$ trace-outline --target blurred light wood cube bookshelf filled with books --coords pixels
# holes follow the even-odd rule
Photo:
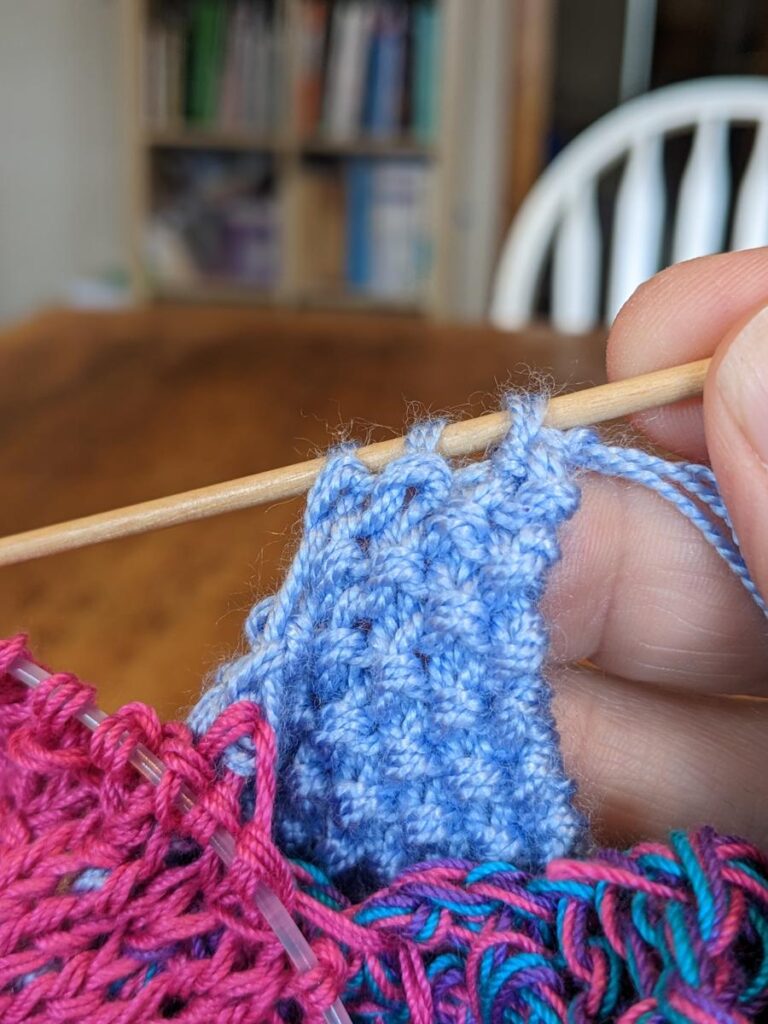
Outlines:
[[[137,297],[456,313],[473,5],[122,2]]]

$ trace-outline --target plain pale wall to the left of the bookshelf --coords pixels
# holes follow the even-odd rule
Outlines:
[[[0,321],[125,265],[118,0],[0,0]]]

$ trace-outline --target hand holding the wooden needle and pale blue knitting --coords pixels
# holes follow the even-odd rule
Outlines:
[[[768,249],[665,270],[616,317],[608,375],[715,356],[703,401],[644,414],[664,449],[709,461],[768,596]],[[761,311],[762,310],[762,311]],[[674,508],[585,482],[550,581],[550,673],[565,767],[598,841],[715,825],[768,846],[768,625]],[[598,671],[573,667],[589,659]]]

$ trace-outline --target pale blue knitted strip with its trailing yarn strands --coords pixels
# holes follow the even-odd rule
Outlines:
[[[248,653],[191,714],[203,732],[234,700],[265,709],[278,839],[337,878],[380,884],[431,856],[536,867],[579,845],[539,612],[579,471],[672,502],[760,602],[709,469],[543,428],[543,397],[507,403],[512,427],[482,461],[436,454],[441,422],[380,473],[332,454],[283,587],[249,615]],[[252,770],[242,746],[229,763]]]

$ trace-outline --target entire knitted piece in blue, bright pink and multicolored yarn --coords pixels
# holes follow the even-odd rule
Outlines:
[[[481,461],[436,454],[440,424],[380,474],[333,453],[188,726],[135,703],[90,733],[92,689],[28,691],[25,639],[0,644],[0,1020],[293,1024],[338,998],[385,1024],[761,1019],[768,862],[709,828],[585,859],[543,674],[539,601],[585,471],[674,503],[765,610],[712,473],[545,429],[543,398],[509,408]]]

